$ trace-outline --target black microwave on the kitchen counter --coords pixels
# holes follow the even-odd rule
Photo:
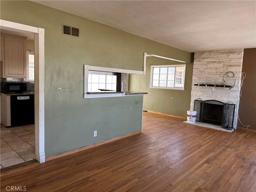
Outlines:
[[[22,93],[27,91],[27,84],[21,82],[1,82],[1,92]]]

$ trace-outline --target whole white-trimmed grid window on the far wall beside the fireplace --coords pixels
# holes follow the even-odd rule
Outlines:
[[[150,88],[184,90],[186,64],[151,66]]]

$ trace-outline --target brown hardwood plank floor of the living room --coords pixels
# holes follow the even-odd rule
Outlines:
[[[256,191],[256,132],[228,133],[183,121],[144,112],[141,134],[4,173],[1,191]]]

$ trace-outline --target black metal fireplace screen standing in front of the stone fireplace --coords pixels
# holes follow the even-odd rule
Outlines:
[[[216,100],[195,100],[194,111],[198,122],[220,125],[225,129],[233,128],[235,104]]]

